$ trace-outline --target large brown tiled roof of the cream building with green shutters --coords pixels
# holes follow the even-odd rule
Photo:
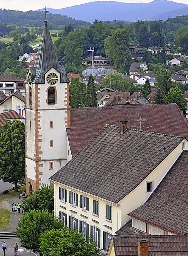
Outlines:
[[[119,202],[144,180],[183,137],[106,125],[50,179]]]

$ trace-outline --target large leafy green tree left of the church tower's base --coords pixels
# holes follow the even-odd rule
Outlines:
[[[13,183],[25,179],[25,124],[19,120],[6,120],[0,126],[0,179]]]

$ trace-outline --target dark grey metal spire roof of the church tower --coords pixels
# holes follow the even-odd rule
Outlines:
[[[45,26],[34,66],[36,76],[33,81],[33,84],[44,84],[44,74],[52,67],[61,74],[61,83],[69,82],[68,78],[63,72],[61,65],[59,64],[56,51],[54,49],[53,42],[48,29],[47,21],[45,20]]]

